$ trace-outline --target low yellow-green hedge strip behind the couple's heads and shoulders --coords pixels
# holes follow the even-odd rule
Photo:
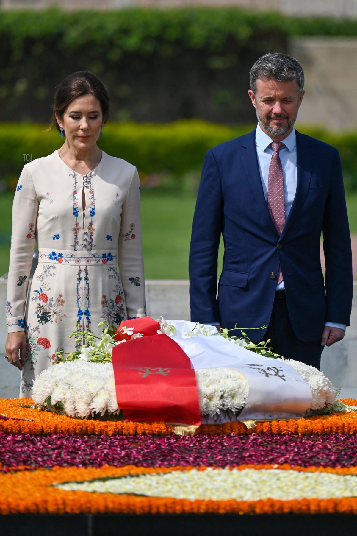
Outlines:
[[[133,163],[141,177],[162,172],[183,176],[201,169],[204,154],[209,148],[253,128],[254,125],[230,128],[200,120],[181,120],[170,124],[109,123],[98,145],[103,151]],[[27,158],[40,158],[62,145],[56,130],[44,130],[45,125],[0,124],[0,177],[10,189],[15,187]],[[337,147],[346,187],[357,189],[357,133],[339,134],[303,127],[298,130]]]

